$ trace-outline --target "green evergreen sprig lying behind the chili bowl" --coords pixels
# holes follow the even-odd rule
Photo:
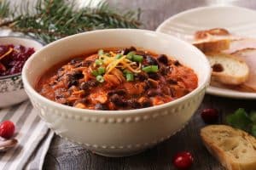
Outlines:
[[[0,27],[20,31],[44,42],[52,42],[79,32],[106,28],[138,28],[139,10],[120,13],[99,3],[96,8],[76,8],[65,0],[38,0],[35,10],[26,7],[17,10],[9,8],[8,1],[0,1]]]

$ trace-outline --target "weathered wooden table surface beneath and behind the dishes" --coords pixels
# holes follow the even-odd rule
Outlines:
[[[143,28],[155,30],[163,20],[188,8],[228,3],[247,8],[256,8],[254,0],[108,0],[113,6],[119,8],[141,8]],[[255,109],[255,100],[224,99],[206,95],[200,108],[196,111],[189,124],[172,138],[158,144],[152,149],[136,156],[122,158],[108,158],[97,156],[83,147],[72,144],[55,135],[44,161],[45,169],[175,169],[172,166],[172,156],[181,150],[189,150],[195,156],[191,169],[195,170],[221,170],[218,161],[207,152],[201,143],[199,131],[205,124],[201,120],[200,112],[203,108],[217,108],[221,116],[219,122],[224,122],[227,114],[239,107],[248,111]]]

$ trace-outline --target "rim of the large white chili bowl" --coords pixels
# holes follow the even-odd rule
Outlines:
[[[27,81],[26,67],[30,64],[32,59],[34,57],[36,57],[38,54],[40,54],[41,51],[44,51],[45,48],[47,49],[49,47],[55,46],[56,43],[66,41],[68,39],[72,39],[73,37],[86,36],[87,34],[95,34],[97,32],[108,33],[109,31],[127,31],[127,32],[137,31],[138,33],[140,33],[140,32],[141,33],[151,33],[151,34],[158,35],[158,36],[161,36],[161,37],[167,37],[167,38],[169,37],[171,39],[174,39],[177,42],[182,42],[184,45],[190,46],[190,48],[195,50],[197,54],[201,55],[201,57],[203,59],[205,59],[205,62],[207,64],[207,71],[208,71],[207,77],[204,77],[203,82],[197,88],[195,88],[192,92],[190,92],[189,94],[184,95],[181,98],[175,99],[171,102],[168,102],[168,103],[165,103],[165,104],[162,104],[162,105],[155,105],[155,106],[150,106],[150,107],[147,107],[147,108],[134,109],[134,110],[123,110],[123,111],[98,111],[98,110],[89,110],[89,109],[79,109],[79,108],[75,108],[75,107],[72,107],[72,106],[61,105],[61,104],[59,104],[55,101],[52,101],[50,99],[47,99],[44,96],[42,96],[41,94],[39,94],[34,88],[32,88],[32,85]],[[160,38],[160,37],[158,37],[158,38]],[[154,112],[154,111],[157,111],[157,110],[166,109],[166,108],[168,108],[172,105],[177,105],[179,103],[182,103],[185,100],[188,100],[190,97],[194,96],[195,94],[201,93],[201,91],[206,89],[207,86],[209,85],[209,81],[210,81],[210,77],[211,77],[211,66],[210,66],[206,56],[204,54],[202,54],[201,51],[198,48],[195,48],[194,46],[189,44],[189,42],[184,42],[183,40],[178,39],[177,37],[173,37],[173,36],[167,35],[165,33],[161,33],[161,32],[142,30],[142,29],[122,29],[122,28],[121,29],[105,29],[105,30],[87,31],[87,32],[74,34],[72,36],[61,38],[59,40],[56,40],[55,42],[51,42],[48,45],[44,46],[44,48],[41,48],[37,52],[32,54],[32,57],[27,59],[23,68],[25,68],[25,69],[22,70],[21,76],[22,76],[22,81],[23,81],[24,87],[36,99],[38,99],[39,101],[40,100],[43,101],[47,105],[54,106],[56,109],[61,109],[61,110],[65,110],[67,112],[72,112],[73,114],[74,113],[84,114],[84,116],[85,115],[87,115],[87,116],[127,116],[127,115],[137,115],[139,113],[143,114],[145,112]]]

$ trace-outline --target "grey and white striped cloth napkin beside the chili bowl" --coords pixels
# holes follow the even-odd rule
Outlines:
[[[0,109],[0,122],[15,123],[15,139],[19,144],[0,152],[0,169],[42,169],[53,132],[41,121],[30,101]]]

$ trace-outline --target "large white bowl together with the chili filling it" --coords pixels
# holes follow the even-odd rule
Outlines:
[[[27,60],[22,80],[62,138],[102,156],[129,156],[183,128],[210,74],[205,55],[187,42],[114,29],[49,43]]]

